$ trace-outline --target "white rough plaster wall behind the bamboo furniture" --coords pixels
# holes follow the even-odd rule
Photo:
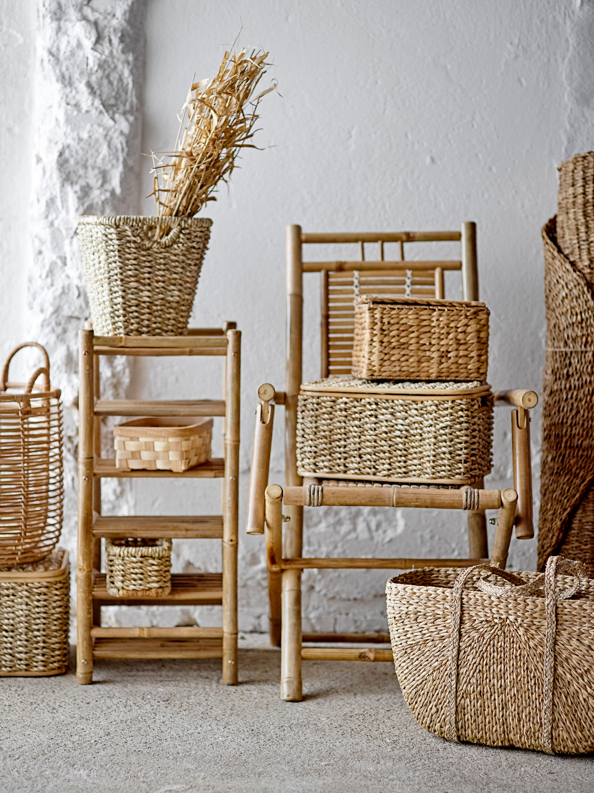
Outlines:
[[[263,151],[246,152],[229,190],[223,188],[219,201],[204,212],[214,225],[192,317],[192,324],[200,325],[237,320],[243,331],[240,627],[265,630],[263,540],[246,537],[243,524],[255,390],[262,381],[280,389],[284,384],[284,226],[458,228],[461,220],[476,220],[481,296],[491,309],[489,381],[497,388],[539,390],[544,343],[539,229],[555,211],[556,167],[592,148],[594,6],[573,0],[149,0],[145,8],[140,0],[40,0],[33,60],[33,4],[12,5],[15,13],[10,24],[6,14],[0,33],[0,63],[10,76],[10,90],[0,100],[3,110],[6,105],[2,163],[12,180],[11,189],[0,195],[0,244],[8,246],[0,260],[0,310],[13,322],[0,343],[3,351],[11,332],[47,342],[66,404],[76,391],[76,331],[88,314],[74,217],[153,213],[152,201],[143,199],[151,190],[148,161],[139,155],[171,147],[176,114],[194,73],[196,79],[213,74],[240,18],[242,43],[271,51],[271,76],[279,80],[282,98],[270,94],[262,102],[257,143]],[[15,152],[21,168],[13,163]],[[16,216],[22,224],[14,223]],[[312,258],[322,253],[308,252]],[[409,248],[408,254],[423,258],[428,252]],[[455,257],[455,246],[443,255]],[[446,286],[456,296],[455,278]],[[304,376],[313,378],[318,375],[317,276],[307,278],[306,306]],[[219,396],[215,360],[137,359],[129,369],[104,374],[111,393],[128,397]],[[63,543],[70,550],[75,418],[71,413],[67,418]],[[281,483],[283,419],[278,408],[271,481]],[[508,425],[503,411],[487,482],[493,487],[512,481]],[[538,409],[532,432],[538,473]],[[218,502],[215,482],[155,487],[138,481],[105,495],[105,507],[120,513],[211,514],[219,511]],[[305,554],[462,556],[467,551],[459,515],[323,508],[308,513]],[[173,563],[177,570],[217,569],[218,543],[176,542]],[[511,563],[534,569],[535,541],[512,541]],[[385,579],[382,571],[305,573],[306,627],[384,627]],[[220,619],[215,608],[109,611],[105,619],[120,624]]]

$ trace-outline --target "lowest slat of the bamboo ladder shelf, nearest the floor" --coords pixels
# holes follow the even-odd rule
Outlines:
[[[223,640],[96,638],[93,658],[222,658]]]

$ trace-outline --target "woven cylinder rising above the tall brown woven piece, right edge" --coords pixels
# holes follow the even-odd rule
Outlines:
[[[594,151],[559,167],[557,243],[589,285],[594,285]]]

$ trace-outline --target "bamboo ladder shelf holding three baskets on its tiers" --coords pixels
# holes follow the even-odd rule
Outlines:
[[[219,328],[190,328],[185,336],[95,336],[90,324],[79,331],[78,396],[78,683],[93,682],[94,658],[222,658],[223,682],[238,682],[237,557],[239,394],[241,331],[234,322]],[[222,400],[102,400],[100,355],[219,355]],[[123,470],[101,458],[101,419],[105,416],[222,416],[224,457],[183,473]],[[104,477],[181,479],[220,478],[223,515],[107,517],[101,515]],[[120,598],[107,592],[101,573],[101,538],[219,538],[221,573],[173,574],[171,592],[158,598]],[[221,627],[101,627],[101,606],[223,606]]]

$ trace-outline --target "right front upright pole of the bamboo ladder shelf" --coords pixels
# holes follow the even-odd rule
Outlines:
[[[241,331],[227,331],[225,509],[223,512],[223,683],[238,682],[237,557]]]

